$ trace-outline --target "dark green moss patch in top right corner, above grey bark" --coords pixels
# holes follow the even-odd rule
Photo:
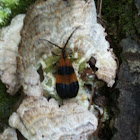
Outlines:
[[[127,36],[140,35],[140,16],[133,0],[104,0],[102,16],[116,44]]]

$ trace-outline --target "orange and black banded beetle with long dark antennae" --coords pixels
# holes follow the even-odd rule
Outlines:
[[[67,98],[74,98],[78,94],[79,90],[79,82],[76,77],[76,73],[74,71],[74,68],[72,66],[72,63],[70,59],[68,58],[68,54],[66,52],[66,46],[71,39],[74,32],[79,27],[75,28],[75,30],[71,33],[71,35],[68,37],[64,47],[59,47],[58,45],[48,41],[50,44],[58,47],[62,50],[61,57],[58,64],[58,70],[56,73],[56,91],[60,98],[67,99]],[[44,40],[44,39],[43,39]]]

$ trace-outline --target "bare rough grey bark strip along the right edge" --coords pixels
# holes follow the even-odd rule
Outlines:
[[[138,140],[140,117],[140,43],[131,38],[121,41],[122,64],[117,88],[120,114],[116,119],[118,129],[113,140]]]

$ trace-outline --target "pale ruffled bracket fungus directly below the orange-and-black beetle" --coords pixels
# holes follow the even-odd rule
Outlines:
[[[59,107],[55,99],[28,97],[11,115],[9,124],[29,140],[80,140],[93,134],[98,120],[77,103]]]

